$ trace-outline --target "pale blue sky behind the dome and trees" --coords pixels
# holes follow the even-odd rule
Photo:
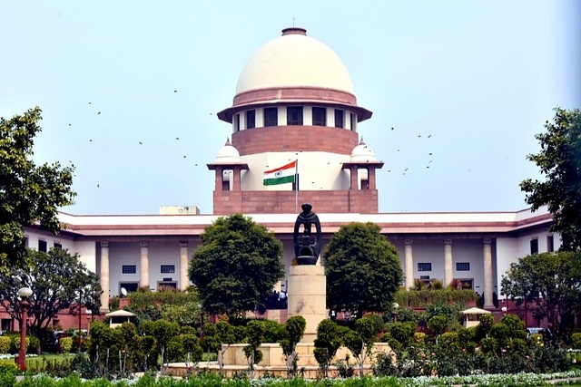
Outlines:
[[[0,116],[43,109],[34,160],[74,163],[66,212],[211,213],[205,165],[231,133],[216,112],[293,20],[373,111],[359,133],[385,162],[383,212],[526,208],[535,133],[555,106],[581,107],[574,0],[5,1]]]

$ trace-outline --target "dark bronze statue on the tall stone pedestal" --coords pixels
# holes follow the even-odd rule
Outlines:
[[[311,212],[312,206],[304,203],[302,212],[294,223],[294,255],[297,258],[297,265],[315,265],[320,254],[320,222],[319,217]],[[300,233],[300,226],[303,226]],[[315,234],[311,233],[311,227],[315,227]]]

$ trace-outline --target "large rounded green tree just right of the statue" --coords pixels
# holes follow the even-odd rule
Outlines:
[[[351,223],[330,238],[323,253],[330,309],[390,310],[403,272],[398,249],[380,231],[371,222]]]

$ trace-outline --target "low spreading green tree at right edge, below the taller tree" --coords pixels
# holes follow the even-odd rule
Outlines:
[[[581,297],[581,251],[524,256],[510,265],[500,284],[504,295],[537,303],[537,315],[561,326]]]

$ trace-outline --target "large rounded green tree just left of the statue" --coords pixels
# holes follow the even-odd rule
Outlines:
[[[254,310],[284,277],[281,241],[249,217],[218,218],[200,238],[189,276],[207,312]]]

